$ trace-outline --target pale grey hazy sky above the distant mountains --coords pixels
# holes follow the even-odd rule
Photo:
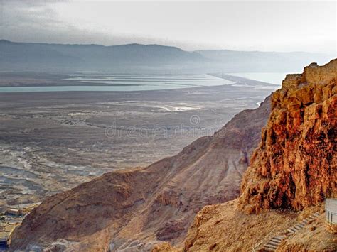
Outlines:
[[[0,38],[336,53],[336,1],[6,1]]]

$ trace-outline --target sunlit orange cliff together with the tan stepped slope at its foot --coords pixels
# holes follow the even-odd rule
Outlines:
[[[185,251],[259,251],[278,235],[285,238],[276,251],[337,250],[321,204],[324,197],[337,197],[336,80],[337,60],[287,75],[272,94],[272,111],[242,194],[198,212]],[[299,226],[313,213],[314,219]],[[294,225],[298,231],[289,234]]]

